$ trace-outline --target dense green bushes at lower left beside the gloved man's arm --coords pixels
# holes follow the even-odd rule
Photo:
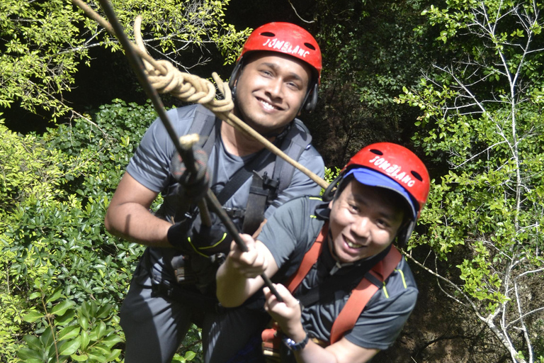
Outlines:
[[[0,133],[1,362],[122,358],[118,309],[143,247],[106,233],[103,218],[155,117],[150,104],[115,100],[41,137]]]

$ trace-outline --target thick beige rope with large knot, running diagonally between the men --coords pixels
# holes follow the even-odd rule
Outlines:
[[[115,31],[111,24],[96,13],[96,11],[91,9],[91,7],[81,0],[72,0],[72,3],[83,10],[86,16],[89,16],[89,18],[108,30],[108,33],[115,36]],[[311,172],[310,169],[307,169],[307,167],[304,167],[299,162],[293,160],[293,158],[279,150],[278,147],[273,145],[268,139],[257,133],[253,128],[237,118],[237,116],[234,116],[231,112],[234,108],[234,103],[232,102],[232,94],[229,85],[222,82],[217,73],[212,73],[212,78],[217,84],[217,89],[219,89],[223,96],[223,99],[221,100],[215,98],[215,86],[212,82],[208,81],[208,79],[200,78],[194,74],[182,73],[167,60],[154,60],[145,49],[140,30],[141,26],[142,18],[141,16],[137,16],[134,24],[136,44],[132,43],[132,48],[137,55],[142,58],[149,82],[151,82],[152,86],[157,89],[159,93],[170,93],[183,101],[202,104],[205,108],[208,108],[215,113],[215,116],[229,123],[232,127],[259,140],[259,142],[274,155],[281,157],[283,160],[293,165],[293,167],[299,169],[322,188],[326,189],[327,186],[329,186],[327,181],[324,181],[324,179],[317,176],[317,174]]]

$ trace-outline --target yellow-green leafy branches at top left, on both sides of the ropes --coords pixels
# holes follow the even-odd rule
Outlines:
[[[85,2],[101,13],[98,1]],[[228,4],[228,0],[117,0],[113,8],[128,33],[141,15],[142,37],[153,56],[187,69],[193,64],[182,65],[176,57],[183,53],[187,58],[193,50],[217,49],[225,63],[234,61],[249,29],[237,31],[225,23]],[[50,111],[53,120],[71,109],[62,95],[74,87],[77,70],[91,65],[89,49],[120,50],[115,38],[68,0],[1,1],[0,39],[0,106],[21,101],[28,111]]]

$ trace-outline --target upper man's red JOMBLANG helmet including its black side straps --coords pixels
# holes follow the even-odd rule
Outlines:
[[[253,30],[230,75],[229,86],[233,93],[235,93],[235,81],[244,63],[244,57],[250,52],[257,51],[280,52],[302,60],[310,66],[312,79],[302,106],[312,111],[317,104],[317,88],[321,82],[322,69],[321,50],[314,37],[307,30],[292,23],[268,23]]]

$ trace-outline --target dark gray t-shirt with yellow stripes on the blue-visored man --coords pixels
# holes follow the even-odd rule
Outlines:
[[[271,251],[280,272],[293,263],[296,264],[296,271],[302,261],[302,255],[319,235],[325,220],[320,218],[322,213],[319,215],[315,213],[316,207],[327,208],[319,198],[295,199],[280,206],[263,227],[258,240]],[[322,286],[331,276],[331,271],[334,271],[334,275],[340,276],[348,274],[351,269],[361,269],[359,276],[362,277],[373,263],[367,259],[337,269],[334,267],[334,257],[331,256],[327,245],[324,245],[322,255],[302,281],[300,288],[295,291],[295,297],[299,297],[314,286]],[[288,281],[287,278],[283,278],[284,284]],[[358,281],[354,281],[354,284],[356,283]],[[302,324],[310,335],[319,340],[329,341],[332,324],[346,304],[351,287],[347,291],[336,291],[334,296],[328,296],[326,300],[324,298],[312,306],[305,306]],[[402,259],[395,272],[385,281],[385,286],[368,301],[353,330],[344,336],[360,347],[387,349],[395,342],[412,313],[417,294],[412,272],[407,262]]]

